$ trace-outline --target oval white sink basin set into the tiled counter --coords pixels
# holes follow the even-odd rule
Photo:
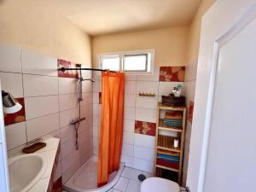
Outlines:
[[[11,192],[26,192],[44,175],[47,162],[38,154],[24,154],[9,159]]]

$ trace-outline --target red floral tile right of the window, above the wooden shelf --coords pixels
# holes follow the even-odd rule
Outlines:
[[[160,67],[160,81],[183,82],[186,67]]]

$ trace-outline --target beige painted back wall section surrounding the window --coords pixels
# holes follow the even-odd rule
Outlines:
[[[128,32],[92,38],[93,65],[96,54],[124,50],[155,49],[155,64],[183,66],[189,28],[172,27],[143,32]]]

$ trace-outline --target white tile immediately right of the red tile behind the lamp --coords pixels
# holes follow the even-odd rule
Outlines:
[[[26,119],[33,119],[59,111],[58,96],[26,97]]]

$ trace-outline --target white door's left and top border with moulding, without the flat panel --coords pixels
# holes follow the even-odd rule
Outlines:
[[[232,0],[218,0],[202,19],[187,180],[193,192],[204,191],[219,48],[256,18],[255,1],[237,0],[230,6],[231,3]]]

